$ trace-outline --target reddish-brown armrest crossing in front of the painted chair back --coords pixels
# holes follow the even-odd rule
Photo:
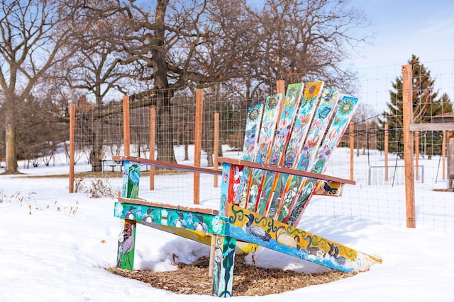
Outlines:
[[[311,172],[294,170],[294,169],[289,169],[289,168],[281,168],[276,165],[267,165],[265,163],[255,163],[252,161],[242,161],[240,159],[226,158],[226,157],[220,157],[220,158],[218,158],[218,161],[219,161],[219,163],[230,163],[231,165],[244,165],[244,166],[250,167],[250,168],[268,170],[268,171],[273,171],[273,172],[277,172],[277,173],[299,175],[299,176],[303,176],[306,178],[315,178],[318,180],[329,180],[329,181],[333,181],[333,182],[342,182],[342,183],[346,183],[348,185],[356,184],[355,181],[348,180],[345,178],[336,178],[334,176],[329,176],[329,175],[311,173]]]

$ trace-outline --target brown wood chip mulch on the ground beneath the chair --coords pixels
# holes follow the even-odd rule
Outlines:
[[[128,271],[109,267],[107,270],[123,277],[136,279],[157,289],[177,294],[211,295],[208,277],[209,258],[201,257],[191,265],[176,263],[178,269],[170,272]],[[291,270],[264,269],[245,264],[243,255],[236,255],[233,273],[233,296],[265,296],[305,286],[324,284],[354,276],[333,270],[321,274],[299,273]]]

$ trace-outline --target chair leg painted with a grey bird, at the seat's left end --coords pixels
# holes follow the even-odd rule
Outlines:
[[[133,270],[135,250],[135,227],[133,220],[121,219],[121,231],[118,236],[116,267]]]

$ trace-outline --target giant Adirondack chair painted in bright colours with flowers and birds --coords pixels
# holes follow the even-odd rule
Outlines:
[[[237,245],[262,246],[343,272],[365,271],[381,260],[297,228],[314,194],[339,195],[350,180],[322,173],[341,140],[358,99],[323,89],[322,82],[291,84],[283,95],[248,110],[243,158],[222,163],[219,209],[138,199],[140,164],[218,174],[221,171],[114,156],[123,161],[117,267],[133,269],[135,226],[211,245],[214,296],[231,296]],[[303,93],[304,92],[304,93]],[[139,214],[140,213],[140,214]]]

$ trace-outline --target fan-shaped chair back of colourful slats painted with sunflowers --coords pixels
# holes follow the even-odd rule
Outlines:
[[[248,110],[242,160],[268,167],[324,173],[348,127],[358,98],[323,88],[323,82],[290,84]],[[221,158],[220,161],[225,161]],[[243,162],[244,164],[244,162]],[[313,194],[341,194],[343,182],[235,167],[228,202],[295,226]]]

